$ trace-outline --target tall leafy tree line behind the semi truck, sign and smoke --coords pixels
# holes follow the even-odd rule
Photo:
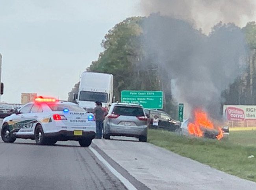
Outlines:
[[[143,46],[143,22],[147,17],[130,17],[116,24],[102,40],[104,51],[86,68],[114,76],[114,96],[121,99],[122,90],[163,90],[164,110],[177,118],[177,102],[172,97],[171,81],[167,84],[160,76],[154,55],[147,55]],[[245,33],[250,56],[246,71],[223,91],[223,104],[256,104],[256,23],[249,22],[241,29]],[[164,72],[161,72],[163,75]],[[69,92],[68,101],[78,92],[79,83]]]

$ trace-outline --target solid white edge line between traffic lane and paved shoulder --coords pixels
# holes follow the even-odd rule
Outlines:
[[[121,173],[117,172],[115,168],[113,168],[107,160],[105,160],[94,148],[89,147],[89,149],[94,153],[94,155],[112,172],[121,182],[126,186],[127,189],[129,190],[137,190],[135,186],[130,183],[124,176],[121,175]]]

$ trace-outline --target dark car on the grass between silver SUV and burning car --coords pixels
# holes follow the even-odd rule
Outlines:
[[[145,109],[145,113],[149,118],[150,125],[149,127],[152,129],[165,129],[168,131],[176,131],[180,128],[181,123],[179,121],[173,120],[171,116],[163,111],[153,110],[153,109]],[[158,118],[158,126],[153,126],[153,118],[157,116]]]

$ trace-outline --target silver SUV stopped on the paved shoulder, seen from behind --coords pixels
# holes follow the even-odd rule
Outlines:
[[[103,138],[126,136],[147,142],[148,118],[142,106],[130,103],[113,103],[104,120]]]

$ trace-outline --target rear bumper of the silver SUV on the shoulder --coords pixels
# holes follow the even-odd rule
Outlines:
[[[148,127],[147,125],[143,125],[143,126],[109,125],[106,132],[112,136],[139,137],[139,136],[147,136]]]

